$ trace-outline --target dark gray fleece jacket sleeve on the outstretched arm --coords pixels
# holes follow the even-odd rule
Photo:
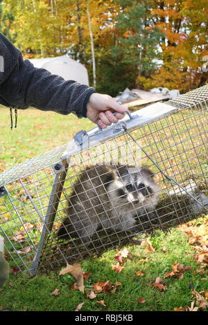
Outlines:
[[[95,92],[92,87],[35,68],[0,33],[0,104],[17,109],[33,106],[64,115],[73,112],[86,118],[89,96]]]

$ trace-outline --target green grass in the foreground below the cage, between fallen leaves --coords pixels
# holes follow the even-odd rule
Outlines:
[[[10,275],[4,288],[0,289],[0,305],[3,309],[10,310],[75,310],[82,302],[84,310],[174,310],[175,307],[191,306],[191,288],[196,288],[198,293],[208,288],[205,273],[197,272],[199,265],[193,259],[195,252],[187,243],[187,235],[177,229],[168,234],[159,233],[150,238],[155,252],[148,252],[139,245],[129,246],[128,250],[132,259],[127,259],[125,268],[118,273],[112,270],[111,265],[116,263],[114,256],[118,250],[105,252],[98,258],[86,259],[81,265],[84,272],[91,272],[88,283],[85,281],[85,293],[73,290],[69,284],[75,279],[69,274],[58,275],[50,272],[49,275],[36,275],[29,279],[24,275]],[[166,246],[166,253],[163,248]],[[148,261],[141,261],[146,259]],[[190,266],[191,270],[184,272],[184,278],[167,277],[163,279],[166,290],[148,286],[155,282],[156,277],[164,277],[171,271],[173,263]],[[135,272],[143,272],[144,276],[137,277]],[[196,272],[196,274],[194,273]],[[115,293],[97,293],[95,299],[87,298],[87,290],[92,288],[97,281],[110,281],[115,284],[121,282]],[[60,289],[58,296],[52,296],[55,288]],[[137,299],[144,297],[146,302],[139,304]],[[104,300],[106,306],[101,306],[96,300]]]

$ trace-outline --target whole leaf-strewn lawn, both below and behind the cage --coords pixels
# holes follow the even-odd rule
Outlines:
[[[167,121],[164,121],[162,127],[166,123]],[[9,110],[1,109],[0,127],[0,171],[3,171],[28,158],[63,145],[71,140],[77,131],[94,127],[94,124],[86,119],[78,120],[73,115],[63,116],[28,109],[18,111],[17,129],[10,130]],[[171,148],[171,136],[168,136],[167,132],[163,135],[160,129],[155,131],[148,127],[144,127],[143,132],[149,133],[150,139],[153,140],[158,133],[159,139],[164,137],[163,143],[166,142],[166,146]],[[139,134],[137,137],[143,136],[143,133]],[[176,149],[171,148],[175,150],[172,151],[173,154],[177,154],[178,149],[184,149],[183,146],[187,151],[189,149],[183,130],[181,137],[184,145],[177,146]],[[156,142],[156,148],[157,145]],[[155,148],[151,147],[151,149]],[[159,159],[164,158],[164,154],[162,148],[158,150]],[[191,154],[190,149],[189,156],[194,158]],[[205,162],[205,152],[200,154]],[[184,158],[186,160],[186,156]],[[171,170],[174,164],[177,167],[176,175],[180,174],[180,168],[189,167],[188,160],[185,166],[181,161],[175,163],[173,160],[170,163],[164,160],[167,170]],[[205,167],[207,168],[207,165]],[[197,168],[198,166],[196,171]],[[84,293],[75,290],[75,279],[69,273],[59,275],[60,270],[50,271],[47,274],[37,274],[31,279],[13,268],[10,279],[4,288],[0,289],[0,308],[75,310],[78,304],[84,303],[81,308],[83,311],[174,310],[180,307],[186,310],[188,307],[184,306],[191,308],[191,301],[195,301],[195,306],[200,306],[196,292],[205,299],[208,288],[207,218],[208,216],[204,216],[198,221],[193,221],[190,225],[192,228],[187,226],[185,229],[184,226],[184,228],[174,228],[168,233],[157,232],[155,236],[149,237],[148,241],[144,239],[142,245],[128,245],[126,247],[128,256],[123,257],[123,260],[118,261],[121,248],[117,248],[103,253],[101,257],[91,257],[81,261],[83,272],[90,273],[88,281],[84,280]],[[199,233],[193,232],[193,228]],[[175,266],[177,270],[173,272]],[[171,271],[173,274],[166,276],[167,272]],[[98,286],[101,287],[100,290]],[[58,294],[51,295],[55,289],[58,289]],[[91,290],[96,297],[89,297]],[[200,310],[206,310],[206,306]]]

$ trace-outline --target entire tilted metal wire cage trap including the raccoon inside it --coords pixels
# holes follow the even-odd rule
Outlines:
[[[55,270],[208,209],[208,85],[0,174],[0,234],[21,272]]]

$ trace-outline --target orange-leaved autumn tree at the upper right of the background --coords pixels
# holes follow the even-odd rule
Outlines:
[[[189,91],[205,83],[202,57],[207,48],[207,0],[158,0],[152,13],[162,30],[162,66],[150,78],[140,78],[147,89],[167,86]]]

